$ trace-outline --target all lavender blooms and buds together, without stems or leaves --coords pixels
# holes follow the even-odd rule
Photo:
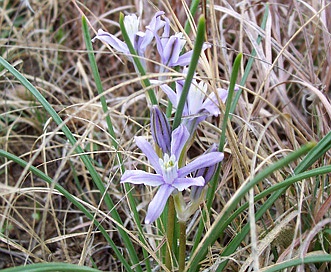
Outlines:
[[[193,51],[182,54],[186,43],[183,39],[183,33],[170,34],[170,22],[168,18],[164,17],[163,11],[154,15],[145,32],[138,30],[139,18],[134,14],[124,18],[124,25],[145,69],[146,48],[154,39],[157,52],[160,55],[161,67],[184,67],[183,73],[185,74],[185,66],[190,63]],[[130,61],[133,61],[127,44],[114,35],[100,29],[92,41],[96,39],[109,44],[118,52],[127,55]],[[203,50],[208,47],[209,45],[204,44]],[[162,84],[162,82],[160,84],[160,89],[167,95],[174,108],[178,106],[183,85],[184,80],[177,80],[175,90],[173,90],[167,84]],[[207,84],[203,81],[198,83],[193,79],[183,110],[184,118],[174,130],[171,129],[169,120],[160,107],[151,106],[151,133],[157,149],[161,152],[156,152],[144,137],[135,137],[137,146],[146,155],[155,173],[127,170],[123,174],[121,182],[159,186],[156,195],[149,204],[145,218],[146,224],[151,224],[161,215],[170,195],[179,199],[179,201],[175,201],[178,219],[187,220],[200,204],[206,184],[214,175],[217,164],[224,158],[224,154],[217,151],[216,145],[213,145],[204,154],[186,165],[185,159],[183,159],[186,158],[185,154],[192,143],[191,140],[198,124],[208,116],[220,114],[219,101],[226,101],[228,91],[218,89],[217,94],[211,93],[208,96],[206,93]],[[162,154],[158,155],[158,153]],[[186,205],[181,192],[189,187],[191,201]]]

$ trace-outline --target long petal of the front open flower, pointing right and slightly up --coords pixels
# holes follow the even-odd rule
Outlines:
[[[224,158],[222,152],[211,152],[208,154],[203,154],[194,161],[190,162],[188,165],[180,168],[178,170],[179,177],[185,177],[189,173],[192,173],[200,168],[209,167],[216,163],[219,163]]]

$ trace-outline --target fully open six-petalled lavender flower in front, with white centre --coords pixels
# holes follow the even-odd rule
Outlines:
[[[156,174],[141,170],[128,170],[121,179],[122,183],[160,186],[149,204],[145,218],[146,224],[151,224],[161,215],[171,193],[176,190],[183,191],[192,185],[203,186],[205,184],[203,177],[187,177],[188,174],[200,168],[214,165],[223,159],[221,152],[213,152],[204,154],[186,166],[179,168],[178,160],[190,135],[186,127],[180,125],[172,132],[171,136],[170,155],[166,153],[163,158],[158,157],[152,145],[144,137],[136,137],[137,146],[145,153]]]

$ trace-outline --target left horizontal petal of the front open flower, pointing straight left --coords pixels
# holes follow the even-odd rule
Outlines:
[[[159,174],[147,173],[142,170],[127,170],[121,178],[121,183],[160,186],[164,183],[164,180]]]

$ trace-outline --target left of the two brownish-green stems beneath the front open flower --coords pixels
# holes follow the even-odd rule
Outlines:
[[[166,259],[165,259],[165,265],[170,271],[172,271],[171,255],[172,255],[172,248],[174,243],[175,217],[176,214],[175,214],[174,199],[172,196],[170,196],[168,203],[167,244],[166,244],[167,249],[166,249]]]

